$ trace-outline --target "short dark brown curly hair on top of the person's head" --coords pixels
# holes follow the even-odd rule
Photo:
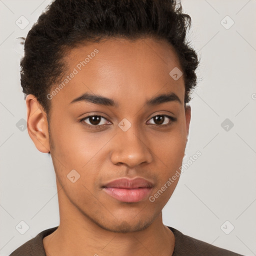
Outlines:
[[[191,18],[175,0],[53,0],[29,30],[20,60],[20,81],[50,113],[47,94],[60,81],[63,57],[86,41],[110,37],[139,39],[151,36],[167,40],[175,49],[185,83],[184,102],[196,86],[196,52],[186,41]],[[24,98],[25,98],[24,97]]]

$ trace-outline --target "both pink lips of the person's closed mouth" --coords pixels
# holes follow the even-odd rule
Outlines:
[[[153,184],[141,177],[119,178],[103,185],[103,190],[111,197],[122,202],[138,202],[152,190]]]

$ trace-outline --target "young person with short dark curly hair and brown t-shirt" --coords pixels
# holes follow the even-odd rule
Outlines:
[[[55,0],[25,39],[27,129],[50,153],[60,222],[11,256],[239,255],[162,223],[198,58],[164,0]]]

